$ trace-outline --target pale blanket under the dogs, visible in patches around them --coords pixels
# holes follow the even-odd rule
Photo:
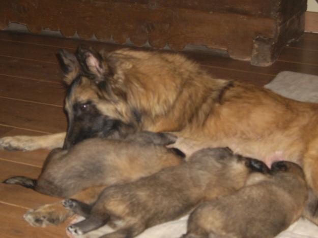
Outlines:
[[[266,88],[290,97],[295,100],[310,101],[318,103],[318,76],[305,75],[294,72],[281,72],[276,78],[265,85]],[[318,115],[317,115],[318,116]],[[270,216],[270,214],[269,214]],[[138,235],[138,238],[177,238],[186,233],[187,218],[182,217],[179,220],[166,222],[151,227]],[[78,238],[96,238],[102,234],[112,231],[108,226],[99,228],[98,230],[89,232]],[[317,238],[318,226],[313,223],[300,219],[291,225],[287,230],[281,232],[279,238]],[[261,238],[261,237],[260,237]]]

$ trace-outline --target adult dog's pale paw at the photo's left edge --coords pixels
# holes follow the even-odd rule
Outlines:
[[[34,150],[32,137],[17,135],[15,137],[4,137],[0,139],[0,149],[3,150]]]

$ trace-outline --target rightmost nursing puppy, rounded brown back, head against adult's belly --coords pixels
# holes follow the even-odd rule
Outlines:
[[[198,206],[183,238],[270,238],[301,217],[307,186],[301,167],[272,164],[271,175],[254,174],[247,187]]]

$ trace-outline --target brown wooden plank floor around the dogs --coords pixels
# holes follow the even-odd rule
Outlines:
[[[64,131],[65,88],[55,54],[64,48],[74,51],[82,41],[23,35],[0,31],[0,137],[16,134],[47,134]],[[111,44],[86,42],[106,50]],[[189,54],[217,77],[248,81],[259,86],[270,82],[281,71],[318,75],[318,34],[306,33],[298,42],[285,47],[279,60],[270,67],[213,55]],[[48,151],[0,151],[0,179],[14,175],[36,178]],[[0,184],[1,237],[66,237],[65,226],[34,228],[22,215],[56,201],[30,189]]]

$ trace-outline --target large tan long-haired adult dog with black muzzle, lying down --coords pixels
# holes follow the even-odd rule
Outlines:
[[[59,58],[69,85],[67,133],[3,138],[3,148],[69,148],[131,128],[175,133],[174,147],[186,154],[210,146],[268,164],[279,156],[303,167],[313,191],[305,213],[318,223],[318,105],[213,78],[180,54],[80,47]]]

